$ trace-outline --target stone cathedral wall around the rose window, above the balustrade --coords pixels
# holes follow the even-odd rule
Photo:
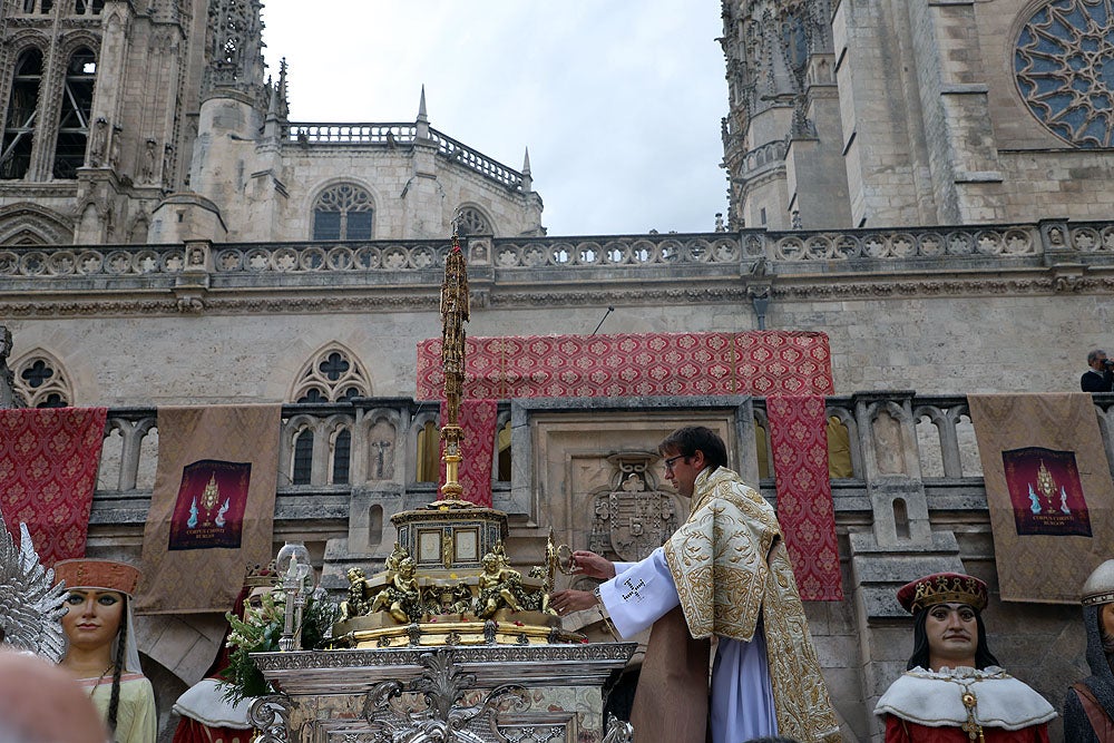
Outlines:
[[[1018,70],[1025,67],[1015,57],[1018,39],[1045,3],[840,0],[831,4],[827,16],[824,0],[723,2],[725,18],[734,21],[725,25],[729,82],[736,91],[756,88],[768,100],[756,102],[753,96],[734,92],[727,120],[745,125],[745,130],[724,135],[734,183],[731,213],[744,217],[747,226],[762,226],[753,218],[760,208],[769,212],[783,204],[795,204],[800,224],[809,227],[994,224],[1033,215],[1095,218],[1108,208],[1114,183],[1110,135],[1101,113],[1086,114],[1088,123],[1097,124],[1083,126],[1079,114],[1074,131],[1054,134],[1030,113],[1027,84],[1018,82],[1023,75]],[[805,87],[795,92],[804,95],[771,95],[769,81],[754,70],[763,69],[766,57],[793,58],[798,50],[790,47],[791,35],[771,35],[770,27],[793,28],[808,13],[830,21],[830,29],[822,30],[830,31],[832,48],[818,41],[825,36],[821,29],[812,29],[809,59],[799,61],[797,70]],[[1053,36],[1061,37],[1063,48],[1083,43],[1082,30],[1072,30],[1071,25],[1057,29]],[[765,40],[766,46],[753,40]],[[1049,85],[1084,89],[1081,86],[1097,74],[1086,65],[1072,68],[1067,53],[1045,46],[1048,61],[1039,67],[1053,70],[1040,78],[1046,99]],[[815,72],[828,58],[833,60],[838,126],[815,106],[814,86],[820,81]],[[751,88],[744,85],[747,80]],[[792,124],[782,121],[779,135],[762,116],[753,115],[763,106],[790,101],[799,110]],[[1056,106],[1054,101],[1052,108]],[[736,154],[741,147],[756,151],[771,139],[794,146],[814,141],[830,156],[786,159],[795,175],[774,183],[763,173],[747,172],[746,155]],[[789,151],[795,154],[792,147]],[[825,198],[809,198],[809,186],[827,182],[838,185]],[[770,193],[774,186],[786,193]],[[843,206],[837,208],[832,202]],[[848,216],[831,222],[841,214]],[[781,227],[789,218],[778,213],[768,224]]]

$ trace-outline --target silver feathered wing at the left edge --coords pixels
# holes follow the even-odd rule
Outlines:
[[[26,524],[19,539],[17,549],[0,516],[0,644],[58,663],[66,652],[66,586],[55,586],[55,571],[39,563]]]

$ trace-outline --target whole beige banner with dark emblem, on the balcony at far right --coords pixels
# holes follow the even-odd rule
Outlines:
[[[969,395],[1004,600],[1079,603],[1114,544],[1114,485],[1089,394]]]

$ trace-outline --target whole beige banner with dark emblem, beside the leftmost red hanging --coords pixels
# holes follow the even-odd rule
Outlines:
[[[158,409],[143,614],[226,612],[272,553],[280,405]]]

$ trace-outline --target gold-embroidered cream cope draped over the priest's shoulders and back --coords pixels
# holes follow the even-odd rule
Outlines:
[[[750,642],[761,619],[778,734],[840,741],[773,508],[724,467],[701,472],[693,496],[692,514],[665,542],[688,632]]]

